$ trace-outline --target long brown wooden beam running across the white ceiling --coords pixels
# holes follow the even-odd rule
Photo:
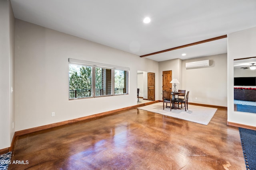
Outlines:
[[[228,37],[228,36],[227,36],[227,35],[222,35],[222,36],[219,36],[219,37],[214,37],[214,38],[210,38],[210,39],[205,39],[205,40],[198,41],[198,42],[195,42],[195,43],[190,43],[190,44],[187,44],[187,45],[182,45],[182,46],[179,46],[179,47],[174,47],[174,48],[171,48],[171,49],[166,49],[166,50],[158,51],[158,52],[155,52],[155,53],[150,53],[150,54],[146,54],[146,55],[141,55],[140,57],[147,57],[147,56],[150,56],[150,55],[155,55],[155,54],[164,53],[164,52],[167,52],[167,51],[172,51],[172,50],[176,50],[176,49],[181,49],[181,48],[189,47],[189,46],[192,46],[192,45],[207,43],[207,42],[210,42],[210,41],[214,41],[214,40],[218,40],[218,39],[222,39],[222,38],[226,38],[226,37]]]

